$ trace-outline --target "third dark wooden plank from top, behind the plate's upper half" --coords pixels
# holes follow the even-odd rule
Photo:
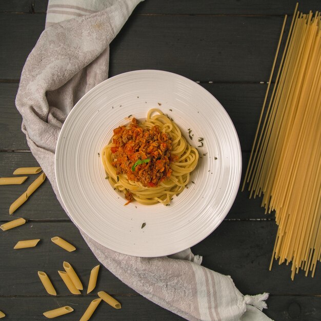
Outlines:
[[[243,151],[250,151],[267,85],[201,83],[228,112]],[[17,83],[0,83],[0,150],[29,149],[15,108]],[[165,111],[164,112],[168,112]]]

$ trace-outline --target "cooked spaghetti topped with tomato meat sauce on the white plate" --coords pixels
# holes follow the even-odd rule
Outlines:
[[[102,150],[102,161],[110,184],[124,192],[127,203],[168,205],[184,190],[198,152],[169,117],[151,109],[145,122],[132,118],[113,134]]]

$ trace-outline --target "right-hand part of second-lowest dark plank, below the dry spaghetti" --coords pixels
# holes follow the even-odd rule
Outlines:
[[[269,292],[278,295],[321,294],[321,266],[315,276],[303,271],[291,280],[291,268],[274,261],[269,271],[277,226],[271,221],[224,221],[206,239],[193,247],[204,255],[203,263],[216,272],[231,275],[243,294]]]

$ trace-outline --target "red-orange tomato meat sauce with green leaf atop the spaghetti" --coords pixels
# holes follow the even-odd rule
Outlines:
[[[145,187],[157,187],[171,176],[170,162],[172,138],[160,131],[158,126],[142,128],[136,118],[129,127],[119,126],[113,130],[112,165],[116,174],[126,174],[128,180],[140,182]],[[129,202],[132,194],[125,197]]]

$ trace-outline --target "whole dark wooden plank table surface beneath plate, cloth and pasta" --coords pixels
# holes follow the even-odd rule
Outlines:
[[[253,142],[267,81],[285,14],[290,18],[295,0],[157,1],[138,5],[110,48],[110,76],[137,69],[162,69],[184,75],[210,91],[229,113],[242,146],[244,169]],[[320,10],[319,0],[306,0],[299,10]],[[45,26],[47,1],[2,0],[0,3],[0,176],[13,169],[36,166],[21,132],[15,108],[19,77],[29,52]],[[288,24],[289,25],[289,24]],[[57,270],[71,263],[84,283],[98,264],[83,238],[59,205],[48,180],[14,217],[13,200],[25,186],[0,187],[0,224],[19,216],[28,223],[0,231],[0,310],[4,320],[42,320],[42,313],[59,305],[82,315],[95,293],[72,296]],[[290,278],[290,266],[274,263],[269,271],[276,235],[273,214],[265,215],[259,199],[237,194],[224,222],[193,252],[203,265],[232,276],[244,294],[269,292],[266,314],[275,320],[321,320],[321,266],[314,278],[303,272]],[[59,235],[77,251],[52,251],[50,238]],[[41,246],[14,251],[18,239],[41,238]],[[46,295],[38,270],[47,271],[58,295]],[[98,288],[114,295],[122,310],[101,305],[93,320],[178,320],[123,284],[102,268]]]

